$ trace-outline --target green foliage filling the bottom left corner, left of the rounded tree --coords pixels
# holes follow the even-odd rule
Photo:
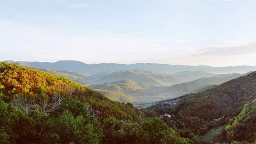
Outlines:
[[[0,100],[0,144],[33,144],[38,138],[38,114],[25,115],[11,104]]]

